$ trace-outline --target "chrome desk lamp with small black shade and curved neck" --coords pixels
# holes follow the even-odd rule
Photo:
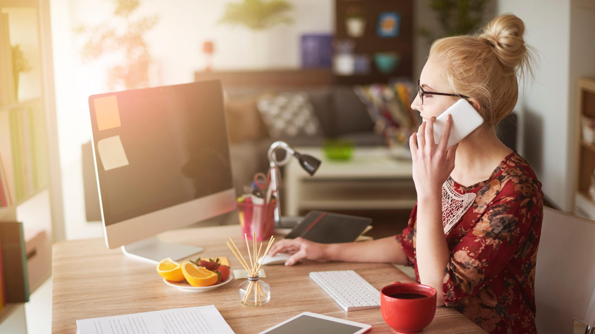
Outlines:
[[[286,152],[283,160],[277,160],[277,154],[275,153],[277,150],[284,150]],[[295,156],[297,160],[299,160],[299,165],[302,166],[302,168],[308,172],[310,176],[312,176],[317,171],[321,161],[311,155],[303,155],[299,152],[296,152],[284,141],[275,141],[273,144],[271,144],[271,147],[268,149],[267,156],[271,173],[271,182],[267,191],[267,203],[271,200],[271,197],[275,196],[275,198],[277,198],[274,213],[275,225],[279,225],[281,220],[281,206],[279,204],[280,199],[278,190],[279,183],[281,182],[281,173],[279,171],[279,167],[287,165],[289,160],[292,159],[292,156]]]

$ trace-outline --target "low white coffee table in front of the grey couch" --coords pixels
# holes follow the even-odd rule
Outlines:
[[[408,151],[355,147],[350,160],[329,160],[318,147],[294,147],[322,160],[311,177],[292,159],[284,171],[284,215],[300,210],[412,209],[417,200]]]

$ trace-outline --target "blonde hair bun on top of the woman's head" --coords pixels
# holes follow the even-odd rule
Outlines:
[[[514,14],[502,14],[487,24],[478,37],[485,40],[502,64],[516,72],[527,67],[529,55],[523,34],[525,24]]]

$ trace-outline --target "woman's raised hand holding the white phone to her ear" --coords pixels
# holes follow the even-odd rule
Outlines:
[[[409,147],[413,158],[413,180],[418,198],[421,196],[440,196],[442,185],[455,168],[455,153],[459,144],[448,149],[448,139],[452,126],[452,116],[446,116],[444,131],[438,144],[434,142],[434,121],[428,119],[419,125],[417,133],[409,137]],[[417,143],[415,138],[417,137]]]

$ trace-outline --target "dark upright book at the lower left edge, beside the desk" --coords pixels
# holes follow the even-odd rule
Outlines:
[[[23,223],[0,221],[0,243],[6,302],[26,303],[29,301],[29,276]]]

